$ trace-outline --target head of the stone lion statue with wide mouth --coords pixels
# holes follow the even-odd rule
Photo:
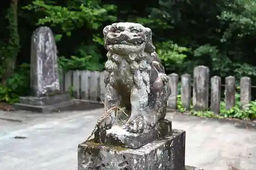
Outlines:
[[[103,29],[106,50],[115,54],[153,53],[152,31],[139,23],[119,22]]]

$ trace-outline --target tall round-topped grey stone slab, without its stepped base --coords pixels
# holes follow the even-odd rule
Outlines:
[[[57,47],[48,27],[39,27],[32,35],[30,76],[33,96],[60,91]]]

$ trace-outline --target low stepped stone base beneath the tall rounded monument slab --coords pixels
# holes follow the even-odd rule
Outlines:
[[[54,94],[42,97],[25,96],[19,98],[19,103],[13,105],[16,110],[33,112],[57,112],[59,108],[72,105],[69,93]]]

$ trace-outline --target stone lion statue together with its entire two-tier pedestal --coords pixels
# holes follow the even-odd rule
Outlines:
[[[95,126],[95,138],[78,146],[78,170],[184,170],[185,132],[172,131],[172,123],[164,119],[171,89],[151,29],[119,22],[106,26],[103,35],[109,51],[105,113]],[[118,110],[129,116],[121,120],[122,127]]]

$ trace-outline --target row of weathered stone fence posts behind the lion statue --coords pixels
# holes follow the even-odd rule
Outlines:
[[[105,92],[104,74],[105,71],[68,71],[64,76],[63,88],[66,91],[72,89],[73,97],[76,99],[101,101],[104,99]],[[209,107],[211,111],[219,113],[222,86],[225,86],[226,109],[232,108],[236,102],[236,79],[232,76],[226,77],[225,84],[222,85],[221,77],[209,77],[209,68],[206,66],[195,67],[192,76],[184,74],[179,77],[176,73],[168,76],[172,89],[168,100],[169,109],[176,109],[177,96],[181,95],[182,104],[187,109],[192,102],[195,110],[206,110]],[[251,79],[249,77],[242,77],[240,80],[240,99],[242,106],[250,102]]]

